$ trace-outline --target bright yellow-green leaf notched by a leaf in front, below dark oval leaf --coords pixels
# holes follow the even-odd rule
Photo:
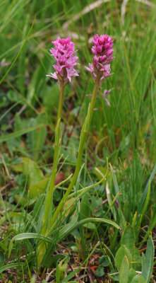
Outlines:
[[[128,250],[128,248],[126,248],[126,246],[123,245],[119,248],[119,250],[117,250],[117,253],[115,255],[115,265],[119,271],[121,269],[121,264],[125,255],[128,258],[128,262],[131,262],[132,259],[131,253]]]

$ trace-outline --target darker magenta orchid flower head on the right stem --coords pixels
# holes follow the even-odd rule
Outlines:
[[[92,46],[93,57],[92,64],[89,67],[85,67],[91,72],[94,80],[97,76],[100,78],[100,83],[111,75],[111,68],[109,62],[112,62],[113,57],[113,42],[112,37],[108,35],[95,35],[92,40],[94,45]]]

